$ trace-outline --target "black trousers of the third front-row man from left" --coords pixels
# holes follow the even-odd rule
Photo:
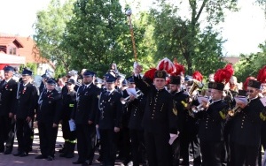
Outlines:
[[[52,123],[38,122],[38,130],[42,155],[54,156],[59,128],[52,127]]]

